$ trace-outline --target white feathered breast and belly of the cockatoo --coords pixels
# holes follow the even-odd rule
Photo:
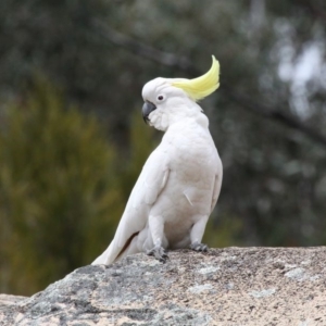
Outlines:
[[[170,175],[158,208],[167,220],[208,214],[220,160],[211,135],[193,128],[167,136],[164,148]]]

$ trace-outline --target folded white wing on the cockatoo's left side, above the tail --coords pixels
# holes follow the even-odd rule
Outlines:
[[[150,208],[168,179],[167,156],[166,151],[158,147],[143,165],[108,249],[106,264],[113,262],[126,249],[133,237],[146,227]]]

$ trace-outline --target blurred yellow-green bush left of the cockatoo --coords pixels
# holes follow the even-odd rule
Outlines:
[[[33,293],[109,242],[123,208],[116,155],[95,117],[38,83],[8,108],[0,159],[1,286]]]

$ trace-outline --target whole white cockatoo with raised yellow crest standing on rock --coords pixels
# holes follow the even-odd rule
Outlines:
[[[165,134],[143,165],[114,239],[93,265],[137,252],[165,262],[166,250],[208,250],[201,239],[220,195],[223,167],[197,101],[220,86],[220,64],[212,58],[212,67],[201,77],[159,77],[145,85],[143,120]]]

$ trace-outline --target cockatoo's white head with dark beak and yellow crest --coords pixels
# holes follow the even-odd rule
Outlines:
[[[159,130],[183,117],[201,112],[197,101],[215,91],[218,84],[220,64],[213,55],[212,67],[195,79],[155,78],[142,88],[142,117]]]

